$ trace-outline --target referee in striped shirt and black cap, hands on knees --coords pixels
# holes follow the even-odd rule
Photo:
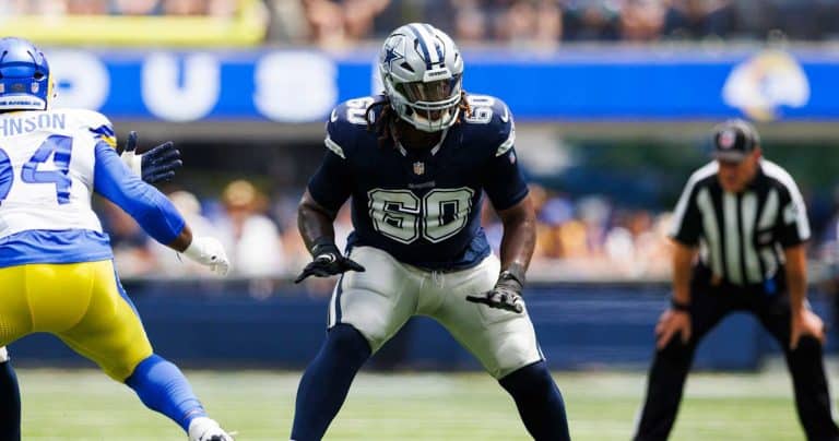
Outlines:
[[[635,439],[667,438],[697,344],[729,312],[748,311],[783,348],[807,439],[839,440],[823,363],[824,324],[805,297],[804,201],[792,177],[761,157],[748,122],[718,126],[713,145],[714,160],[694,172],[676,205],[673,298],[655,325]]]

